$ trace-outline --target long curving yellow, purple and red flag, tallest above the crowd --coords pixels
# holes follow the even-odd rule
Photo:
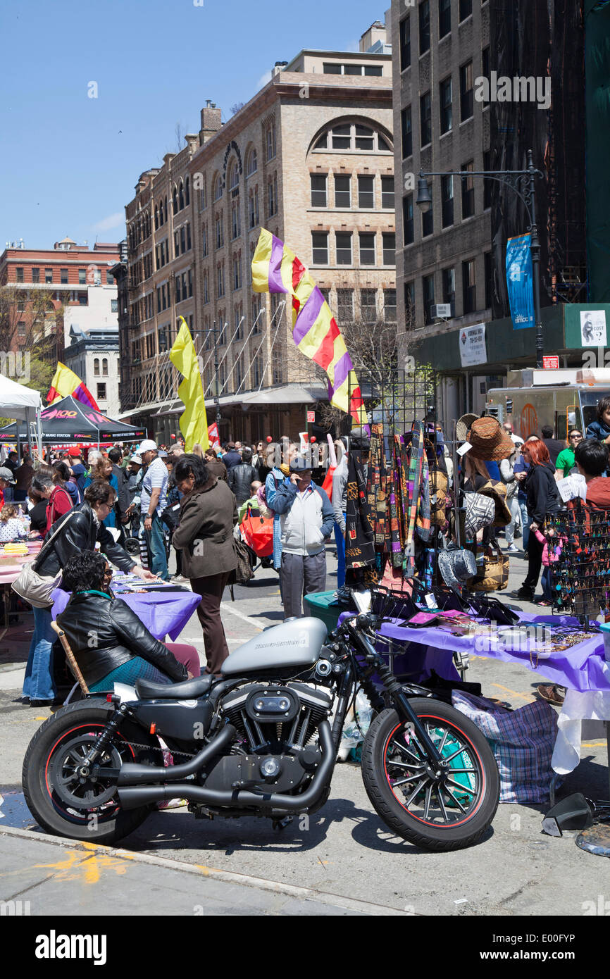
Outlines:
[[[256,293],[283,293],[292,297],[293,338],[297,347],[326,371],[330,403],[349,412],[358,425],[367,425],[352,357],[329,304],[303,262],[264,228],[260,229],[252,259],[252,287]]]

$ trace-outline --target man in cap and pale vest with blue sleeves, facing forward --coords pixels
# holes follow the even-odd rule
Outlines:
[[[311,482],[311,469],[300,456],[290,463],[290,479],[278,487],[272,505],[280,515],[284,616],[302,618],[304,594],[324,591],[326,585],[325,545],[333,533],[335,514],[324,490]]]

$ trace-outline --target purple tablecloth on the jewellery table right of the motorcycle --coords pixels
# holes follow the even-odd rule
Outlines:
[[[578,619],[570,616],[535,616],[528,617],[518,613],[521,627],[546,625],[549,627],[569,627],[584,631]],[[347,618],[342,615],[340,622]],[[604,659],[603,639],[601,632],[593,637],[579,642],[568,649],[549,650],[543,638],[538,639],[534,629],[522,629],[519,635],[511,638],[509,633],[503,633],[503,627],[494,624],[488,631],[485,629],[475,635],[452,635],[436,626],[423,629],[408,627],[406,622],[393,619],[384,623],[380,629],[382,635],[387,635],[401,642],[417,642],[434,649],[447,651],[457,650],[470,653],[472,656],[492,656],[505,663],[520,663],[537,676],[559,683],[570,690],[610,690],[610,663]],[[595,631],[596,624],[591,623],[587,631]],[[554,630],[556,633],[556,629]],[[553,635],[551,641],[558,637]],[[516,640],[516,641],[515,641]],[[517,647],[517,648],[515,648]],[[435,668],[436,669],[436,668]],[[437,671],[438,672],[438,671]]]

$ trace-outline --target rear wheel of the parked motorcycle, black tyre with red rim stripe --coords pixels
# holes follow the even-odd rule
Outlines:
[[[111,780],[81,782],[75,773],[78,760],[84,758],[112,714],[114,708],[104,700],[78,701],[45,721],[29,742],[23,759],[23,795],[32,816],[48,832],[113,843],[137,829],[154,808],[123,812]],[[146,731],[123,721],[101,769],[104,764],[116,768],[127,761],[158,764],[152,753],[130,747],[131,741],[154,747]]]

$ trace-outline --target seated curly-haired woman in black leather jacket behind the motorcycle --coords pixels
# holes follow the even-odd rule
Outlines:
[[[57,617],[89,690],[112,690],[136,679],[171,683],[187,678],[186,668],[156,639],[121,599],[108,593],[112,571],[103,554],[83,551],[64,568],[71,591]]]

